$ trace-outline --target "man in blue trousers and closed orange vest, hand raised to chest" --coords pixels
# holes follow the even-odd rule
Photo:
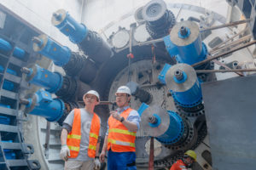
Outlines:
[[[133,170],[136,167],[135,139],[141,121],[137,111],[130,108],[131,90],[126,86],[117,89],[118,109],[110,111],[100,161],[105,161],[108,150],[108,170]]]

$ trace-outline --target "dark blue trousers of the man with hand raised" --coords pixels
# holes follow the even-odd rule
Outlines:
[[[108,150],[108,170],[137,170],[135,152],[113,152]],[[128,166],[127,166],[128,164]]]

